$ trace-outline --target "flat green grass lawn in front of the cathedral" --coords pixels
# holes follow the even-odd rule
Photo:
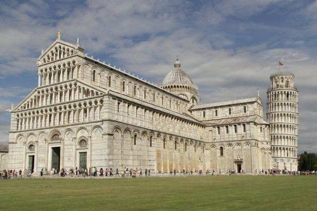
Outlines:
[[[317,176],[1,180],[2,210],[316,210]]]

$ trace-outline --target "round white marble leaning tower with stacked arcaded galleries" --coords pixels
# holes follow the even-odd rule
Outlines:
[[[294,74],[278,72],[270,79],[266,118],[271,125],[272,167],[296,171],[298,90],[294,87]]]

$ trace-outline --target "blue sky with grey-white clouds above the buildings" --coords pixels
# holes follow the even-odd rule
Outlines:
[[[36,60],[61,30],[88,56],[154,84],[181,68],[202,103],[256,96],[266,113],[270,75],[295,75],[298,154],[317,153],[317,1],[14,1],[0,2],[0,143],[11,104],[37,87]],[[284,65],[279,70],[278,62]],[[264,117],[266,119],[266,116]]]

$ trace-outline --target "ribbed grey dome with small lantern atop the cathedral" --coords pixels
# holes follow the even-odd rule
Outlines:
[[[162,85],[164,84],[194,84],[192,79],[184,72],[181,67],[181,62],[177,59],[174,63],[175,69],[169,72],[164,80]]]

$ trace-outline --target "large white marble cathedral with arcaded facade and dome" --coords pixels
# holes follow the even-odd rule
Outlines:
[[[259,94],[200,104],[179,59],[157,86],[87,56],[59,32],[37,66],[38,86],[10,110],[10,169],[272,168]]]

